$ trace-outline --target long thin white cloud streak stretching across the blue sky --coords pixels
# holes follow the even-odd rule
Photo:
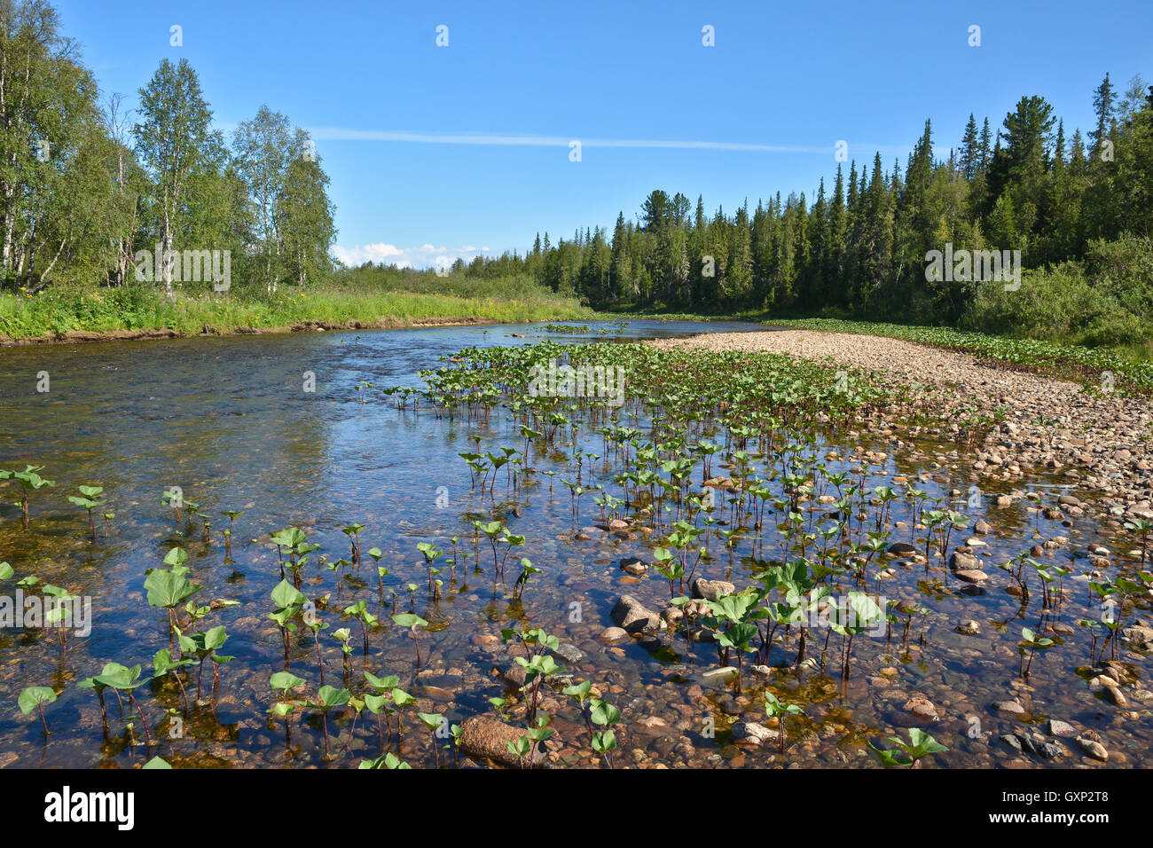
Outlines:
[[[731,150],[759,153],[822,153],[834,151],[835,141],[823,145],[756,144],[751,142],[686,141],[664,138],[586,138],[579,135],[519,135],[511,133],[420,133],[402,129],[349,129],[345,127],[314,127],[309,129],[316,141],[382,141],[415,144],[466,144],[480,147],[567,148],[579,141],[581,148],[636,148],[642,150]],[[909,145],[854,144],[859,149],[881,151],[907,150]]]

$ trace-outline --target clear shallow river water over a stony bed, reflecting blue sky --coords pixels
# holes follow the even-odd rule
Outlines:
[[[15,571],[12,579],[0,581],[0,593],[14,594],[16,579],[36,575],[40,585],[62,586],[92,603],[91,632],[70,635],[63,650],[56,633],[48,630],[0,629],[0,767],[130,767],[149,753],[181,766],[349,767],[363,757],[377,756],[370,715],[366,714],[368,722],[357,726],[351,738],[347,715],[331,715],[330,744],[336,755],[331,760],[323,759],[318,715],[309,714],[303,721],[294,716],[287,728],[266,715],[277,700],[269,675],[284,668],[280,632],[267,618],[269,593],[280,580],[278,556],[267,535],[296,525],[333,562],[348,556],[349,541],[341,528],[352,523],[364,525],[363,550],[376,547],[382,551],[380,564],[390,569],[385,586],[399,595],[395,610],[408,609],[406,585],[416,583],[413,608],[430,626],[420,637],[420,675],[415,674],[412,638],[391,625],[370,635],[364,658],[359,625],[342,618],[339,610],[366,599],[371,609],[382,611],[372,563],[340,575],[307,566],[302,591],[310,598],[331,593],[323,613],[330,629],[321,636],[326,683],[341,685],[347,680],[360,692],[362,668],[397,674],[401,688],[420,699],[414,707],[443,712],[459,722],[491,712],[490,697],[514,692],[500,677],[513,665],[513,654],[498,637],[502,628],[528,622],[575,646],[583,656],[567,671],[595,683],[623,711],[617,763],[777,764],[775,748],[734,744],[729,730],[734,719],[764,721],[762,701],[756,698],[763,681],[746,673],[745,691],[739,692],[702,677],[716,666],[715,647],[698,645],[686,654],[684,641],[673,643],[668,635],[663,636],[666,647],[656,652],[636,641],[598,640],[612,625],[610,610],[618,595],[631,593],[660,611],[668,602],[669,586],[651,570],[634,578],[619,568],[628,556],[651,561],[653,541],[601,531],[588,531],[588,540],[574,539],[570,498],[559,481],[550,495],[549,479],[537,475],[517,494],[515,511],[513,498],[496,498],[500,516],[527,538],[518,554],[543,569],[530,580],[523,605],[511,602],[511,579],[508,586],[493,588],[491,554],[483,540],[480,562],[488,565],[483,575],[473,573],[469,558],[451,575],[442,575],[442,599],[432,601],[424,591],[427,572],[416,545],[434,542],[445,551],[444,561],[450,561],[450,536],[457,534],[461,539],[458,551],[470,554],[470,519],[492,515],[492,501],[472,488],[459,452],[475,448],[473,435],[482,436],[482,451],[502,444],[520,448],[523,441],[499,411],[485,426],[460,419],[450,422],[427,410],[398,410],[376,389],[419,387],[419,370],[437,368],[443,365],[439,357],[465,347],[523,345],[542,338],[638,339],[763,329],[655,321],[632,321],[624,329],[597,322],[591,327],[591,333],[573,337],[545,333],[540,325],[499,325],[0,350],[0,468],[44,465],[43,475],[56,481],[55,488],[31,494],[27,532],[20,508],[12,503],[17,497],[15,483],[0,486],[0,562],[7,561]],[[48,391],[38,392],[43,373],[47,373]],[[315,390],[310,391],[312,381]],[[357,388],[366,382],[372,387]],[[602,438],[586,435],[583,449],[600,453]],[[821,450],[839,449],[849,456],[858,445],[888,452],[882,464],[869,467],[869,487],[887,483],[896,474],[914,480],[919,474],[940,473],[930,457],[955,449],[926,444],[924,453],[907,459],[883,440],[868,443],[844,436],[844,441],[822,444]],[[564,467],[559,456],[534,455],[533,461],[538,471]],[[611,473],[602,465],[593,473],[596,482],[613,489]],[[966,488],[960,478],[944,487],[932,478],[922,479],[933,494],[950,486]],[[1038,482],[1037,490],[1046,503],[1052,502],[1058,490],[1048,488],[1045,480]],[[106,503],[96,510],[95,540],[83,509],[67,501],[85,483],[105,489]],[[212,525],[208,533],[203,519],[191,526],[187,515],[179,524],[174,520],[161,500],[171,487],[179,487],[183,498],[198,504]],[[995,493],[984,494],[987,501]],[[789,691],[790,700],[806,713],[790,726],[787,761],[875,766],[865,742],[912,725],[906,703],[921,695],[935,705],[940,718],[918,721],[918,726],[950,749],[930,758],[935,765],[1080,764],[1082,751],[1071,738],[1060,740],[1067,751],[1056,759],[1015,755],[997,738],[1018,728],[1045,730],[1050,716],[1100,734],[1110,752],[1109,765],[1153,764],[1148,752],[1153,704],[1141,700],[1147,695],[1148,658],[1125,648],[1120,652],[1122,665],[1138,675],[1138,683],[1124,689],[1131,701],[1125,711],[1094,691],[1084,671],[1077,673],[1090,665],[1090,637],[1070,625],[1078,617],[1097,615],[1087,583],[1067,578],[1068,601],[1061,616],[1040,622],[1040,628],[1063,623],[1070,632],[1049,631],[1057,644],[1037,653],[1028,685],[1020,681],[1020,630],[1038,628],[1040,605],[1034,598],[1023,613],[1019,601],[1003,591],[1008,577],[992,563],[1063,535],[1070,543],[1057,551],[1056,561],[1079,575],[1090,570],[1085,553],[1090,542],[1118,543],[1098,535],[1087,523],[1069,527],[1049,521],[1030,512],[1028,504],[1015,502],[995,515],[985,502],[965,509],[973,520],[987,517],[994,524],[994,533],[986,539],[989,547],[981,550],[990,565],[986,570],[993,575],[984,590],[943,579],[940,570],[930,575],[922,565],[898,565],[884,587],[887,593],[915,602],[927,613],[914,618],[906,639],[899,630],[890,639],[859,639],[847,684],[817,671],[771,682],[775,691]],[[243,510],[235,520],[231,558],[223,538],[228,519],[221,510]],[[114,511],[115,517],[103,518],[105,511]],[[894,518],[903,517],[899,505],[895,506]],[[597,509],[586,497],[580,525],[598,523]],[[180,691],[171,683],[137,690],[157,736],[149,752],[140,744],[143,730],[127,699],[121,706],[111,691],[106,696],[105,734],[98,699],[75,684],[113,660],[142,665],[145,674],[151,670],[153,654],[167,646],[168,637],[165,613],[145,601],[145,570],[160,566],[165,553],[178,543],[189,554],[191,579],[204,585],[196,595],[199,603],[239,602],[214,609],[204,620],[204,626],[226,626],[229,638],[220,651],[235,659],[220,666],[214,699],[208,697],[211,668],[205,668],[204,703],[194,705],[184,722],[168,721],[165,715],[166,711],[175,716],[182,713]],[[487,563],[485,556],[490,557]],[[740,556],[738,549],[736,565],[730,568],[728,557],[718,555],[706,576],[747,585]],[[580,609],[575,620],[574,605]],[[1147,609],[1146,605],[1146,614]],[[392,610],[385,603],[383,611]],[[958,622],[969,618],[979,622],[979,635],[956,631]],[[331,635],[340,626],[353,630],[347,678],[340,645]],[[832,645],[839,650],[839,637]],[[310,637],[294,638],[292,670],[315,691],[317,666]],[[190,680],[195,689],[195,676]],[[25,716],[16,706],[17,693],[29,685],[50,686],[59,695],[45,706],[51,731],[46,741],[38,715]],[[189,698],[194,695],[188,693]],[[1024,706],[1023,714],[992,707],[1011,699]],[[552,692],[544,705],[556,715],[558,763],[593,764],[585,726],[566,701]],[[402,758],[414,766],[431,766],[430,737],[412,707],[405,728]],[[395,735],[392,744],[395,750]],[[442,752],[439,763],[451,764],[452,756]]]

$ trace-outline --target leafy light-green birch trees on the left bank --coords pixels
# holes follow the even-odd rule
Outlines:
[[[271,293],[331,272],[329,178],[285,115],[262,106],[226,140],[183,59],[160,62],[133,112],[122,96],[101,99],[46,0],[0,0],[0,80],[9,291],[221,291],[205,268],[212,254],[218,280],[225,252],[231,288]]]

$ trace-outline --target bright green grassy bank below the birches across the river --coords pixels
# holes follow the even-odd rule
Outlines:
[[[588,318],[575,300],[526,291],[513,297],[367,292],[347,288],[281,290],[261,294],[166,295],[151,286],[47,290],[0,298],[0,340],[59,340],[76,333],[169,331],[179,336],[308,325],[405,327],[454,321],[567,321]]]

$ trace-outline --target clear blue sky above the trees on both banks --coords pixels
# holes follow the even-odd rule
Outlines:
[[[703,194],[709,213],[812,197],[839,140],[858,163],[880,149],[903,165],[930,118],[944,157],[970,112],[996,128],[1024,95],[1086,129],[1106,70],[1122,91],[1153,82],[1148,0],[56,6],[105,92],[135,102],[160,59],[183,57],[223,128],[261,104],[308,128],[336,254],[416,267],[611,227],[654,188]]]

